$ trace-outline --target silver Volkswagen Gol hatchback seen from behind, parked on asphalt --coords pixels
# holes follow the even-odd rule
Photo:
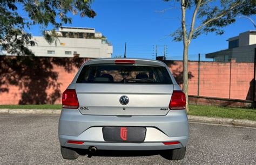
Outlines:
[[[185,95],[161,61],[87,61],[62,104],[58,136],[64,159],[76,159],[78,149],[162,150],[169,160],[185,156]]]

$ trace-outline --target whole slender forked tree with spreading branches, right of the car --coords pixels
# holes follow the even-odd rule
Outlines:
[[[170,0],[164,0],[170,1]],[[256,14],[255,0],[178,0],[181,5],[181,28],[173,32],[174,41],[183,41],[183,91],[188,101],[188,48],[191,40],[200,34],[215,32],[223,34],[223,27],[235,22],[237,16]],[[192,11],[191,21],[187,21],[187,11]],[[198,24],[196,26],[196,23]],[[188,102],[186,102],[188,111]]]

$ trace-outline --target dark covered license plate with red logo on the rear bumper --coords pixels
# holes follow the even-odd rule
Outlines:
[[[143,142],[145,127],[103,127],[103,138],[107,142]]]

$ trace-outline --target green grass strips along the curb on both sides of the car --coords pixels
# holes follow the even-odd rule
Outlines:
[[[0,105],[0,109],[61,109],[62,105]],[[256,120],[256,110],[207,105],[190,105],[190,115]]]

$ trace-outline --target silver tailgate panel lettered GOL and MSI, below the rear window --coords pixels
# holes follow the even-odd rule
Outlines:
[[[172,91],[170,84],[76,84],[79,111],[93,115],[166,115]],[[120,101],[122,96],[129,99],[127,104]]]

